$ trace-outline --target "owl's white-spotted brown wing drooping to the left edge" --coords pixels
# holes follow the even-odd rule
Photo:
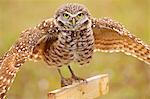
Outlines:
[[[39,57],[45,42],[50,42],[50,46],[57,40],[57,35],[54,19],[47,19],[21,33],[16,43],[0,58],[0,99],[6,96],[21,65],[29,58]]]

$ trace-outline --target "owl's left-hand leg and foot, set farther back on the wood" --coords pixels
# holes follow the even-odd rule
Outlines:
[[[71,85],[72,84],[72,80],[70,78],[65,78],[62,73],[61,73],[61,70],[58,68],[58,73],[61,77],[61,87],[64,87],[64,86],[68,86],[68,85]]]

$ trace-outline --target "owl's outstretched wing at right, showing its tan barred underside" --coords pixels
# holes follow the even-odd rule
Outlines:
[[[95,51],[124,52],[150,64],[150,47],[110,18],[93,19]]]

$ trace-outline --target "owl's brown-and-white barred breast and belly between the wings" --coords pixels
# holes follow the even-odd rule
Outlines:
[[[45,51],[45,61],[49,65],[62,66],[71,61],[80,65],[89,63],[94,48],[92,31],[87,33],[62,33],[58,41]]]

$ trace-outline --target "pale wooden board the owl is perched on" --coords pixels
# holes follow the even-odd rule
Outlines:
[[[94,99],[109,91],[108,74],[97,75],[87,79],[87,83],[74,83],[51,91],[48,99]]]

